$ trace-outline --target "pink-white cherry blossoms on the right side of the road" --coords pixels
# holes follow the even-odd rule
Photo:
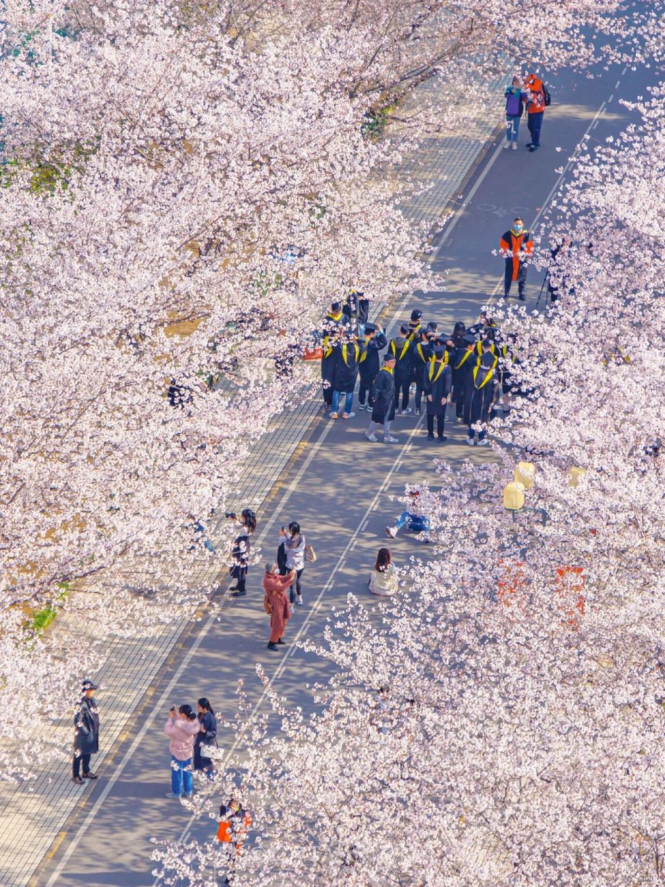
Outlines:
[[[555,307],[497,311],[520,394],[494,459],[421,491],[434,556],[308,645],[334,671],[311,715],[268,686],[275,737],[240,706],[238,883],[662,882],[664,109],[659,88],[576,164],[549,220],[572,239]],[[543,521],[504,507],[520,459]],[[215,842],[154,858],[164,883],[226,864]]]

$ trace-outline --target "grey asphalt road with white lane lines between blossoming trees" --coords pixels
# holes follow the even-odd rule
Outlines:
[[[454,321],[468,323],[477,318],[502,275],[502,260],[492,250],[513,217],[519,214],[528,226],[537,224],[552,193],[569,175],[561,177],[557,169],[566,166],[583,135],[591,135],[591,144],[615,136],[634,119],[620,99],[645,95],[645,87],[655,78],[653,70],[644,68],[592,73],[593,79],[571,73],[547,78],[553,104],[545,112],[540,151],[528,153],[524,146],[526,121],[522,121],[519,151],[504,151],[498,141],[496,148],[490,147],[467,184],[463,206],[434,257],[434,269],[448,272],[446,292],[419,294],[409,305],[421,307],[424,320],[436,319],[449,332]],[[527,304],[532,308],[543,273],[532,269],[529,274]],[[407,310],[396,315],[408,316]],[[297,632],[301,636],[306,632],[313,640],[320,638],[327,614],[333,606],[342,606],[349,592],[374,602],[367,578],[377,549],[385,544],[386,524],[402,511],[390,497],[402,495],[404,483],[427,480],[435,485],[434,456],[452,462],[488,458],[487,451],[464,445],[465,429],[454,423],[447,423],[448,443],[428,443],[424,417],[395,420],[398,444],[368,443],[363,436],[368,419],[364,412],[356,412],[350,421],[333,423],[322,418],[300,461],[291,467],[273,498],[275,510],[269,515],[273,524],[263,545],[262,562],[274,556],[279,526],[292,520],[301,523],[319,555],[303,576],[306,606],[295,608],[286,640],[293,640]],[[265,530],[266,522],[267,518],[259,531]],[[400,563],[414,556],[431,556],[426,546],[408,534],[400,534],[390,547]],[[161,675],[153,698],[175,678],[170,693],[173,703],[194,703],[206,695],[217,710],[230,713],[239,679],[244,680],[250,697],[260,700],[262,688],[255,675],[255,663],[260,662],[269,674],[278,671],[279,692],[307,710],[305,684],[325,677],[325,666],[300,650],[287,651],[282,658],[266,649],[268,617],[262,609],[261,564],[250,571],[246,598],[224,603],[195,625],[189,644]],[[193,652],[192,644],[196,645]],[[99,702],[103,720],[103,695]],[[113,763],[100,773],[98,783],[84,789],[85,805],[68,823],[58,852],[38,876],[39,884],[149,887],[154,882],[150,838],[174,840],[189,828],[189,813],[164,797],[169,789],[169,756],[162,729],[168,705],[159,710],[152,705],[137,712],[137,729],[146,719],[151,724],[145,742],[128,756],[130,735],[116,750]],[[219,739],[224,747],[231,747],[232,736]],[[214,828],[211,820],[195,822],[191,834],[206,838]]]

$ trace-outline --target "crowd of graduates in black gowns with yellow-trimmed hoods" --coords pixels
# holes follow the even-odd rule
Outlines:
[[[468,428],[466,443],[486,445],[485,429],[476,440],[474,426],[487,423],[496,414],[501,396],[512,389],[510,371],[516,356],[510,337],[503,341],[497,325],[484,313],[477,324],[467,329],[459,321],[450,337],[444,336],[434,321],[423,324],[422,311],[415,309],[411,320],[388,341],[386,331],[369,323],[358,310],[357,294],[353,299],[351,310],[348,302],[343,308],[340,302],[332,302],[320,335],[324,409],[330,418],[340,417],[342,397],[341,418],[355,416],[351,407],[359,380],[358,409],[372,412],[365,432],[368,440],[376,442],[375,431],[383,426],[384,442],[396,443],[390,431],[395,414],[419,415],[425,396],[427,439],[442,443],[447,439],[443,431],[451,395],[458,422]],[[387,350],[381,365],[383,349]],[[415,395],[413,410],[411,393]]]

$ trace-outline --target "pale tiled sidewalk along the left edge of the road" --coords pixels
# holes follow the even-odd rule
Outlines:
[[[491,84],[499,97],[496,113],[486,109],[468,136],[426,139],[423,151],[406,157],[403,168],[395,173],[395,183],[403,174],[411,180],[432,184],[429,191],[405,205],[405,212],[415,221],[434,226],[450,206],[450,200],[456,199],[465,178],[481,158],[489,138],[501,122],[499,108],[503,83],[501,77]],[[433,84],[423,84],[423,88],[431,89]],[[380,307],[375,306],[375,311]],[[275,483],[319,419],[318,365],[311,365],[306,372],[307,380],[292,397],[292,402],[298,405],[280,414],[273,421],[270,432],[254,445],[238,486],[241,491],[238,506],[253,506],[258,513],[261,512],[262,503],[270,498]],[[216,527],[208,528],[215,541],[223,536],[221,528],[222,521]],[[216,570],[216,567],[210,567],[197,578],[221,580],[223,577],[215,577]],[[88,594],[94,597],[93,590],[79,593],[76,608],[72,606],[69,613],[60,615],[52,630],[57,632],[63,655],[68,648],[81,644],[95,644],[105,651],[106,661],[93,676],[107,687],[99,695],[102,750],[95,758],[95,767],[103,769],[113,746],[126,734],[136,733],[136,725],[130,723],[129,718],[145,693],[153,687],[155,679],[168,673],[169,657],[177,654],[179,640],[192,617],[187,616],[176,625],[155,624],[149,636],[126,640],[106,635],[98,621],[86,618],[89,608],[85,598]],[[94,612],[94,609],[90,608],[90,611]],[[200,614],[195,616],[198,617]],[[71,743],[71,729],[71,720],[67,718],[51,731],[51,736],[61,743],[63,750]],[[44,854],[57,850],[67,818],[81,798],[86,797],[87,791],[87,787],[76,787],[70,781],[68,765],[52,761],[43,766],[35,780],[18,788],[0,785],[3,820],[0,884],[20,887],[30,882]]]

